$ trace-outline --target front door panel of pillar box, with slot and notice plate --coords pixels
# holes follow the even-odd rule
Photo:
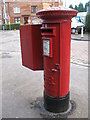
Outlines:
[[[50,96],[59,96],[60,41],[59,24],[42,27],[44,57],[44,91]]]

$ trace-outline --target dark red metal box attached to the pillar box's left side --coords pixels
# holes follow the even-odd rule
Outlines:
[[[41,25],[21,25],[20,40],[23,66],[43,70]]]

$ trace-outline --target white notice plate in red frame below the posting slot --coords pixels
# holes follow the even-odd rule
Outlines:
[[[43,39],[43,55],[47,57],[52,57],[52,39]]]

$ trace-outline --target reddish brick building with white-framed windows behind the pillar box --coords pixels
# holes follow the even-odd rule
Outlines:
[[[38,20],[36,12],[49,6],[58,6],[60,2],[54,0],[5,0],[7,23],[24,23]],[[3,14],[3,7],[2,7]],[[4,18],[2,20],[4,23]]]

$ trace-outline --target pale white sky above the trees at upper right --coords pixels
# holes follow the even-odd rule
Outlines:
[[[62,0],[63,1],[63,5],[65,6],[65,1],[66,1],[66,7],[69,7],[70,4],[73,5],[73,7],[75,7],[75,5],[79,5],[79,3],[83,3],[83,5],[85,6],[86,2],[89,2],[90,0]]]

